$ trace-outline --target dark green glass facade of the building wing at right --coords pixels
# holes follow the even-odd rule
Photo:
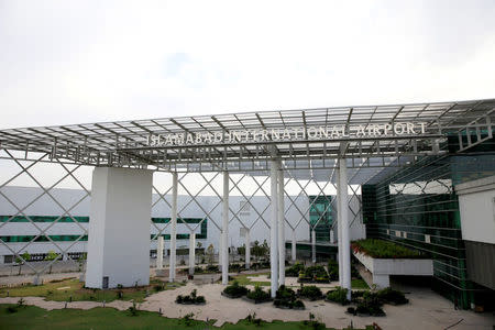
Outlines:
[[[454,150],[455,139],[447,147]],[[432,288],[470,308],[481,288],[469,280],[454,185],[495,174],[493,141],[470,154],[417,161],[373,185],[364,185],[363,220],[369,238],[380,238],[428,253]],[[480,153],[483,150],[483,153]]]

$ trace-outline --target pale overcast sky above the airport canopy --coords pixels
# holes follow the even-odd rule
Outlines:
[[[495,1],[0,0],[0,128],[495,97]]]

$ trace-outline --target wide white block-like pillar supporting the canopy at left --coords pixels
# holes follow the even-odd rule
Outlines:
[[[94,169],[87,287],[148,285],[152,185],[152,170]]]

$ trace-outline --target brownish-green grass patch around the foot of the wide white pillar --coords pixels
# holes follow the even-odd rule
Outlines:
[[[161,286],[163,289],[175,289],[183,284],[179,283],[164,283],[160,279],[152,278],[148,286],[122,288],[122,289],[90,289],[84,288],[84,283],[77,278],[67,278],[64,280],[50,282],[43,285],[25,285],[18,287],[4,287],[0,289],[0,297],[7,297],[9,292],[10,297],[44,297],[46,300],[54,301],[113,301],[135,300],[143,301],[147,295],[156,292],[155,287]],[[122,292],[121,298],[119,292]]]

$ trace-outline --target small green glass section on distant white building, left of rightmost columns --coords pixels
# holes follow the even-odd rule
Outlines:
[[[315,230],[317,242],[330,242],[332,228],[331,196],[309,196],[309,239]]]

